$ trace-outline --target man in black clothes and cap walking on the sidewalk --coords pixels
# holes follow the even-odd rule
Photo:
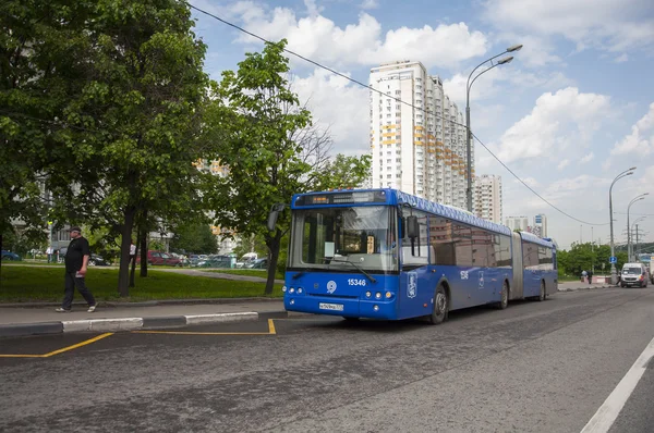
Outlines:
[[[57,312],[70,312],[73,307],[73,296],[75,287],[88,304],[88,312],[94,312],[96,309],[96,300],[90,290],[86,287],[85,276],[90,250],[88,240],[82,237],[82,228],[71,227],[71,243],[65,252],[65,292],[61,307],[56,309]]]

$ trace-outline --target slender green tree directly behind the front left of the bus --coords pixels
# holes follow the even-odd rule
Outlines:
[[[266,294],[272,293],[280,242],[288,230],[284,212],[274,232],[268,232],[268,211],[289,202],[301,190],[311,165],[300,158],[302,148],[292,135],[311,123],[311,114],[299,104],[284,75],[286,41],[266,44],[262,53],[247,53],[239,71],[227,71],[211,108],[217,143],[216,157],[229,175],[216,177],[210,196],[217,224],[241,236],[261,235],[270,251]]]

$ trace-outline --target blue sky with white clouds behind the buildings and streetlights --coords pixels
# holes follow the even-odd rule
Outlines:
[[[522,44],[511,63],[471,89],[471,129],[497,159],[554,207],[530,191],[479,143],[476,173],[502,180],[504,215],[536,213],[560,248],[627,242],[630,223],[654,240],[654,3],[651,0],[190,0],[194,7],[364,84],[385,62],[422,62],[444,81],[459,110],[480,63]],[[219,81],[262,42],[194,11],[208,46],[205,69]],[[289,54],[293,89],[314,121],[329,127],[334,152],[365,154],[368,92]],[[482,71],[482,69],[477,71]],[[633,224],[632,224],[633,225]],[[635,230],[635,225],[633,225]]]

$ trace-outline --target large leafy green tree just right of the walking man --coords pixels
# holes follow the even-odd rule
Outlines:
[[[203,175],[192,164],[201,157],[197,137],[209,85],[203,71],[206,46],[193,34],[184,2],[86,5],[78,37],[87,49],[74,59],[84,86],[64,109],[70,162],[50,178],[61,219],[120,233],[118,288],[128,296],[130,240],[138,215],[170,224],[199,212]]]

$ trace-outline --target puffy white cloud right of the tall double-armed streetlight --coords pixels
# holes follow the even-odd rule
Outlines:
[[[560,159],[592,144],[595,131],[610,116],[610,98],[580,94],[574,87],[543,94],[532,112],[500,138],[498,158],[505,163],[530,158]]]

